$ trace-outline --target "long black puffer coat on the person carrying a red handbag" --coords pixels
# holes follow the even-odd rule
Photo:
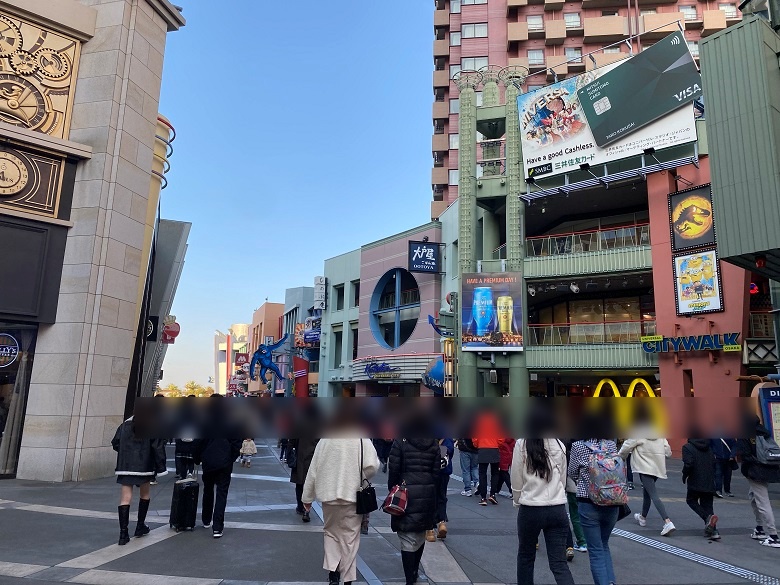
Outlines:
[[[440,450],[435,439],[398,439],[390,449],[387,487],[406,482],[406,514],[393,516],[393,532],[423,532],[434,524]]]

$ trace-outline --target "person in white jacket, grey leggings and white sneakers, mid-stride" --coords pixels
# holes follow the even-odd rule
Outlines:
[[[642,482],[642,512],[634,514],[634,520],[640,526],[646,526],[652,503],[664,521],[661,536],[669,536],[675,531],[675,526],[666,513],[656,487],[659,479],[666,479],[666,458],[672,456],[669,442],[663,438],[626,439],[620,447],[619,455],[623,459],[631,456],[633,471],[639,474],[639,481]]]

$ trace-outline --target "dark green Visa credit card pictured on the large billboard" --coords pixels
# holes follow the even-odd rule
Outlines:
[[[580,87],[577,98],[596,144],[604,147],[701,97],[701,88],[678,31]]]

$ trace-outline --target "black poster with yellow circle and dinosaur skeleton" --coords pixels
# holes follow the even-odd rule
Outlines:
[[[675,252],[715,245],[709,185],[669,194],[669,229]]]

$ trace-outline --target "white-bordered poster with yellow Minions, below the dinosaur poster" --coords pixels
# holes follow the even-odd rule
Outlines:
[[[720,270],[715,250],[675,256],[674,280],[678,315],[723,310]]]

